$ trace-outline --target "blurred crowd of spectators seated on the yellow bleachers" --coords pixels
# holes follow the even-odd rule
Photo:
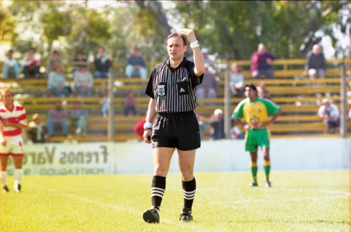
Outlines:
[[[201,85],[198,86],[197,99],[213,99],[217,98],[219,89],[218,70],[214,62],[208,57],[208,50],[202,50],[205,60],[205,73]],[[192,59],[191,57],[189,58]],[[253,78],[262,79],[257,87],[258,97],[270,99],[271,94],[266,88],[264,79],[274,77],[272,64],[274,55],[267,51],[266,46],[260,43],[257,51],[252,53],[252,64],[250,72]],[[46,60],[45,72],[40,72],[42,62],[35,56],[35,50],[29,48],[27,55],[19,62],[14,58],[14,51],[7,52],[7,58],[2,66],[2,79],[20,79],[20,78],[47,78],[47,89],[50,95],[57,97],[69,97],[75,95],[77,97],[91,98],[94,95],[94,79],[107,78],[112,65],[112,57],[105,53],[103,47],[99,47],[97,54],[94,57],[94,71],[90,71],[91,65],[88,63],[86,54],[78,52],[76,57],[72,59],[71,67],[65,67],[60,57],[59,51],[53,51],[50,57]],[[314,45],[312,50],[306,56],[306,65],[304,75],[309,75],[310,79],[324,78],[326,69],[326,61],[324,54],[319,45]],[[73,85],[68,85],[65,72],[71,70],[73,75]],[[127,78],[147,79],[146,62],[140,55],[138,48],[134,48],[130,57],[126,59],[125,76]],[[230,91],[233,97],[244,97],[245,78],[242,73],[242,68],[233,63],[230,68]],[[110,97],[106,92],[100,100],[101,116],[107,118]],[[138,115],[136,107],[136,99],[133,91],[129,91],[124,99],[123,115]],[[200,102],[201,104],[201,102]],[[211,103],[209,103],[211,104]],[[212,104],[213,105],[213,104]],[[351,117],[351,110],[350,110]],[[323,118],[328,132],[334,133],[335,128],[340,125],[339,110],[336,105],[332,104],[331,100],[324,99],[317,115]],[[74,133],[77,135],[87,135],[88,111],[82,109],[79,102],[75,102],[74,110],[68,112],[62,108],[62,102],[55,102],[55,107],[50,109],[47,114],[46,123],[42,122],[39,114],[32,116],[32,122],[29,124],[29,135],[33,142],[51,141],[54,135],[67,136],[68,134],[68,118],[73,122]],[[217,109],[211,114],[210,120],[205,122],[203,115],[198,115],[201,138],[202,131],[211,127],[210,137],[213,140],[225,138],[223,111]],[[134,128],[137,131],[137,128]],[[230,130],[230,138],[242,139],[244,134],[232,122]],[[60,133],[58,133],[60,132]],[[137,132],[136,132],[137,133]]]

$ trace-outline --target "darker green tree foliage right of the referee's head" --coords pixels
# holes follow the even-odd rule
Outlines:
[[[183,26],[197,28],[201,43],[212,53],[218,53],[220,58],[225,58],[228,52],[231,59],[250,59],[260,42],[279,58],[303,58],[326,35],[335,45],[337,39],[332,28],[342,24],[341,10],[346,2],[176,1],[176,4],[174,16],[181,15]]]

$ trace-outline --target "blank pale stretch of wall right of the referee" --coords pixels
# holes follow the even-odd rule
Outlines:
[[[350,168],[350,139],[272,139],[272,170],[327,170]],[[247,171],[249,152],[243,140],[205,141],[197,152],[196,171]],[[261,152],[258,166],[263,166]]]

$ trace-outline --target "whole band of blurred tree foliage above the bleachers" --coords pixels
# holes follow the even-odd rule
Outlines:
[[[52,47],[58,41],[67,59],[77,51],[96,54],[103,46],[121,61],[134,47],[147,60],[159,61],[167,58],[164,40],[174,31],[166,17],[171,14],[220,59],[226,53],[230,59],[250,59],[260,42],[278,58],[303,58],[324,36],[337,46],[334,30],[346,27],[347,1],[173,1],[176,7],[167,11],[161,1],[120,1],[99,9],[87,3],[13,1],[0,13],[0,39],[21,53],[35,47],[44,59],[58,49]]]

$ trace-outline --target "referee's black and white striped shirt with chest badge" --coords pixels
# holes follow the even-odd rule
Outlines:
[[[170,60],[154,67],[145,93],[155,99],[156,112],[189,112],[196,108],[196,86],[201,84],[204,74],[197,77],[194,62],[185,57],[176,68],[170,67]]]

